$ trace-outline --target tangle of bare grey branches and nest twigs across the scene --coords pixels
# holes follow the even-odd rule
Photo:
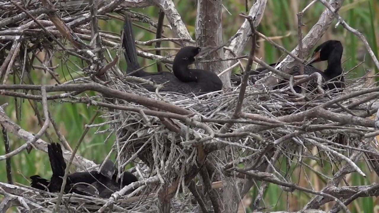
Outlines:
[[[50,211],[57,205],[62,210],[77,212],[103,212],[107,209],[119,212],[157,212],[157,209],[161,212],[235,212],[241,197],[257,186],[259,193],[253,204],[254,209],[259,211],[266,207],[260,201],[268,183],[277,185],[285,192],[297,190],[312,194],[312,198],[302,208],[303,212],[322,212],[312,209],[318,209],[331,201],[335,202],[331,212],[341,209],[348,212],[346,205],[358,197],[378,196],[377,184],[343,186],[340,182],[352,172],[366,177],[365,171],[357,166],[357,160],[361,157],[379,174],[379,153],[374,147],[379,118],[372,119],[379,107],[379,87],[355,79],[346,83],[348,86],[343,92],[330,93],[319,87],[318,92],[313,91],[307,96],[291,96],[288,90],[293,91],[294,83],[299,81],[293,82],[293,77],[290,77],[287,88],[271,89],[278,81],[276,75],[288,77],[295,61],[302,61],[303,52],[309,52],[334,17],[344,27],[348,27],[335,12],[343,0],[331,0],[329,3],[321,1],[327,9],[310,33],[304,39],[299,39],[301,48],[292,52],[285,50],[288,56],[277,67],[280,70],[269,67],[254,55],[257,45],[255,39],[245,69],[241,66],[239,56],[251,37],[258,35],[274,44],[255,30],[262,20],[266,2],[255,1],[249,14],[242,15],[246,21],[228,47],[222,44],[218,36],[206,41],[205,34],[202,34],[204,29],[198,27],[200,44],[214,42],[219,45],[210,58],[218,58],[216,64],[221,66],[212,64],[214,61],[208,62],[211,64],[210,69],[221,75],[225,89],[193,96],[158,92],[159,87],[157,92],[148,92],[140,85],[131,83],[131,80],[139,80],[153,84],[137,77],[125,77],[117,69],[121,51],[116,51],[116,56],[112,57],[106,47],[119,49],[120,36],[100,32],[97,26],[97,18],[123,19],[110,12],[121,13],[125,7],[144,7],[155,3],[166,14],[179,38],[164,38],[162,35],[162,38],[136,43],[193,43],[170,0],[89,1],[89,5],[80,6],[54,5],[47,0],[36,1],[28,6],[18,1],[1,1],[0,8],[6,9],[2,13],[4,19],[0,21],[0,94],[41,102],[42,116],[37,107],[33,108],[41,124],[41,129],[34,135],[5,113],[3,108],[6,105],[0,108],[0,123],[6,130],[3,135],[13,133],[27,141],[13,151],[7,149],[0,160],[9,159],[25,149],[35,148],[46,152],[46,142],[41,137],[45,135],[49,142],[52,141],[46,133],[52,124],[60,142],[68,150],[64,152],[64,158],[69,161],[74,154],[71,160],[75,166],[85,170],[95,168],[96,164],[92,161],[75,155],[77,149],[73,151],[70,148],[50,112],[50,102],[93,105],[106,109],[103,116],[108,121],[92,124],[92,119],[80,142],[88,128],[110,124],[104,132],[116,135],[113,151],[117,153],[119,171],[133,162],[135,167],[131,171],[138,174],[139,181],[115,192],[110,199],[103,200],[78,194],[60,197],[28,186],[12,185],[12,181],[8,180],[9,183],[0,183],[0,193],[5,196],[0,209],[18,205],[20,211]],[[221,3],[208,9],[220,8]],[[200,3],[199,11],[208,12],[204,4]],[[152,26],[163,25],[141,14],[133,13],[133,17]],[[301,25],[301,13],[298,17]],[[200,26],[201,22],[208,20],[197,21],[197,26]],[[221,23],[218,24],[220,26],[212,25],[210,29],[221,27]],[[161,29],[157,29],[157,32],[160,37]],[[71,47],[66,45],[66,41]],[[86,44],[84,41],[90,42]],[[160,49],[157,49],[159,53]],[[44,53],[42,58],[39,55],[41,52]],[[54,65],[53,60],[56,52],[63,52],[60,58],[66,62],[70,61],[66,54],[80,60],[80,64],[74,65],[75,70],[83,76],[61,82],[55,71],[58,66]],[[141,50],[137,53],[162,63],[172,61],[170,57]],[[253,61],[274,74],[251,84],[248,72],[245,72],[241,85],[231,86],[229,68],[241,66],[243,70],[250,70]],[[377,63],[377,60],[374,61]],[[30,77],[33,70],[49,73],[56,84],[34,83]],[[11,77],[14,83],[9,83]],[[5,139],[7,143],[9,141]],[[315,169],[315,164],[325,163],[335,166],[335,171]],[[292,173],[298,169],[323,178],[326,182],[323,188],[315,189],[310,180],[305,181],[305,185],[310,187],[296,184],[299,178]],[[262,183],[258,186],[257,181]],[[134,189],[133,193],[126,194],[131,189]],[[61,202],[62,205],[59,205]]]

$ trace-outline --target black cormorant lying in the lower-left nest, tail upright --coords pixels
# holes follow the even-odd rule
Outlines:
[[[66,162],[64,161],[60,144],[52,143],[48,144],[47,147],[53,175],[50,180],[43,179],[39,175],[31,176],[31,187],[44,191],[59,192],[63,182],[62,178],[64,176],[64,170],[66,169]],[[109,194],[109,190],[106,187],[111,189],[117,187],[120,188],[121,180],[116,182],[117,173],[115,173],[115,171],[117,171],[117,169],[114,167],[113,161],[107,160],[100,172],[90,171],[69,174],[67,175],[64,193],[75,192],[78,194],[92,195],[93,193],[91,190],[83,190],[83,185],[78,184],[88,183],[94,186],[99,186],[99,188],[97,188],[99,196],[106,197]],[[130,172],[124,172],[121,176],[123,178],[122,185],[128,185],[138,180]]]

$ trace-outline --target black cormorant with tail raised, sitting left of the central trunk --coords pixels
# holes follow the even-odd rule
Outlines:
[[[125,60],[127,62],[127,72],[131,73],[139,69],[136,60],[136,48],[132,31],[132,22],[129,17],[125,17],[124,38],[122,46],[125,49]],[[150,73],[144,70],[138,70],[133,76],[154,81],[156,84],[164,84],[163,92],[179,92],[182,94],[202,94],[207,92],[218,91],[222,89],[221,79],[213,72],[202,69],[189,69],[188,66],[193,64],[195,56],[199,54],[200,47],[187,46],[179,50],[175,55],[171,72]],[[155,91],[151,85],[141,85],[149,91]]]

